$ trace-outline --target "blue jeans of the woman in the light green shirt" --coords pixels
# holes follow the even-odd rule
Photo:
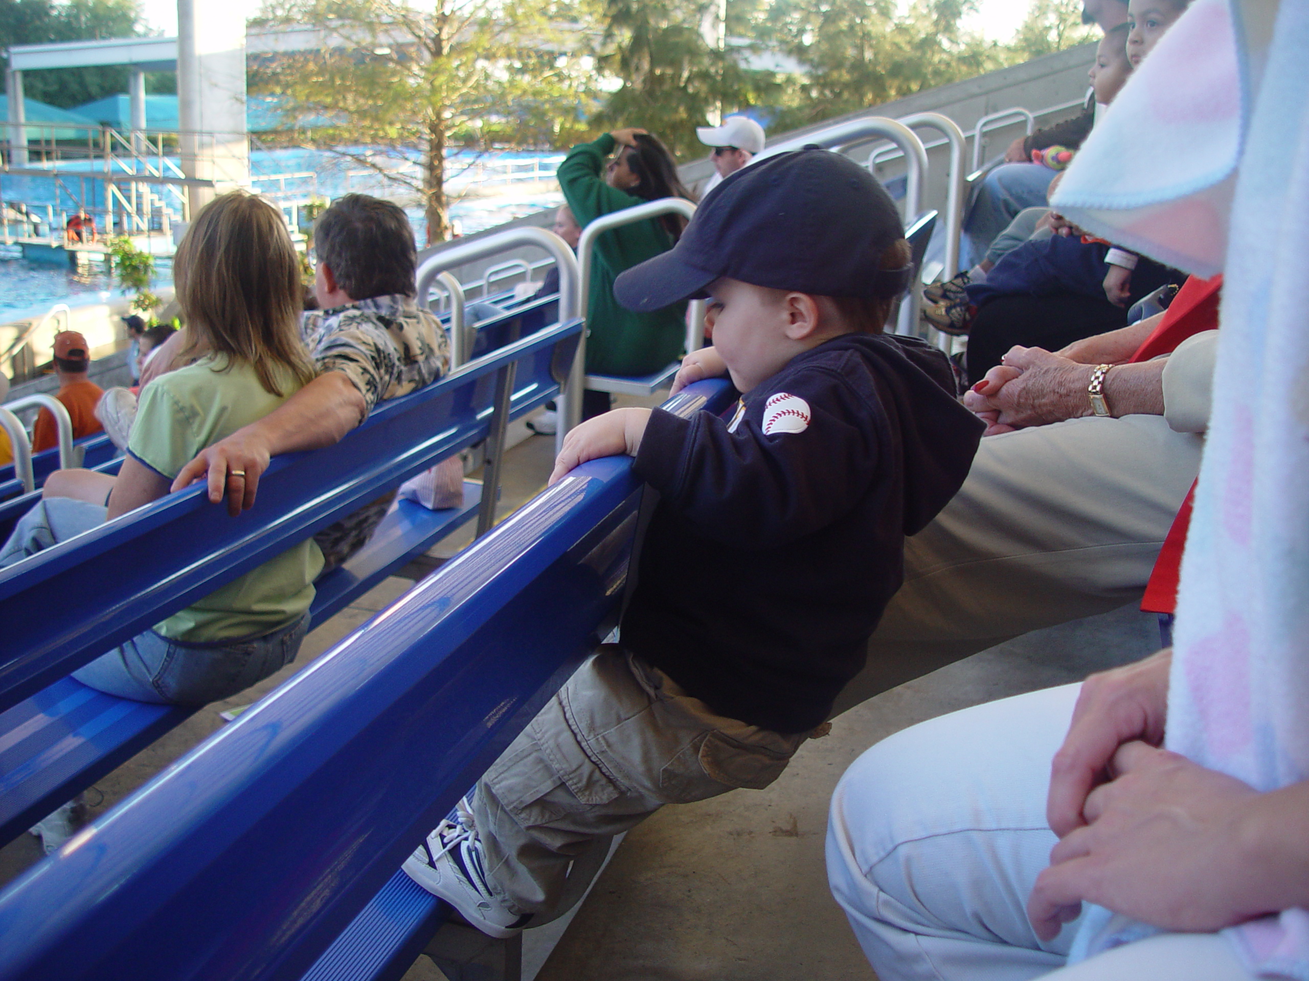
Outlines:
[[[0,549],[0,568],[103,523],[105,508],[99,505],[47,497],[18,519]],[[145,630],[73,671],[73,678],[134,701],[204,705],[228,698],[295,661],[308,625],[305,613],[270,633],[211,642],[178,641]]]

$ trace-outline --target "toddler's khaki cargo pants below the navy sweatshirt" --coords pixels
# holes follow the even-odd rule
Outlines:
[[[551,910],[569,862],[664,804],[763,789],[808,734],[715,714],[617,646],[588,658],[478,783],[473,818],[497,897]]]

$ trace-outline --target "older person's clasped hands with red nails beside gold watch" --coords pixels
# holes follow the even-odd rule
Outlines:
[[[963,404],[990,424],[988,434],[995,426],[1009,432],[1089,416],[1086,386],[1093,370],[1042,348],[1014,347],[963,394]]]

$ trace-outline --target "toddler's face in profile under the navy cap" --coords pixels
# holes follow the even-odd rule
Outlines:
[[[709,286],[706,330],[740,392],[767,381],[796,356],[787,337],[791,319],[784,296],[781,290],[726,277]]]

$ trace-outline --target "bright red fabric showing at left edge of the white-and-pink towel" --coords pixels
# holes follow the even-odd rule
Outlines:
[[[1155,332],[1145,339],[1132,361],[1148,361],[1160,354],[1168,354],[1177,345],[1200,331],[1217,330],[1219,294],[1223,289],[1223,276],[1200,280],[1191,276],[1178,290],[1169,305],[1164,319]],[[1177,610],[1177,582],[1182,574],[1182,551],[1186,548],[1186,531],[1191,526],[1191,500],[1195,497],[1195,484],[1186,492],[1182,508],[1173,518],[1164,547],[1155,560],[1155,569],[1145,583],[1141,610],[1147,613],[1172,613]]]

